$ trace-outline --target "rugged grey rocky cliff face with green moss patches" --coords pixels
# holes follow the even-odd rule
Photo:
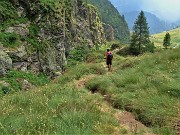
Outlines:
[[[2,0],[1,75],[11,67],[61,73],[69,51],[105,41],[96,8],[81,0]]]

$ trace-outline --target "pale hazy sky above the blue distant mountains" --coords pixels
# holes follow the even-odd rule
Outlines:
[[[144,10],[157,17],[175,22],[180,20],[180,0],[110,0],[117,6],[126,6],[127,10]],[[128,4],[128,6],[127,6]]]

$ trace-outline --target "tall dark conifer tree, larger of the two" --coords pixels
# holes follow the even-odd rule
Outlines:
[[[130,52],[139,55],[146,51],[153,52],[154,44],[149,39],[149,27],[144,12],[141,11],[136,19],[131,36]]]

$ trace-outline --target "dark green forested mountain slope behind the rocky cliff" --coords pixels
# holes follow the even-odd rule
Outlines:
[[[126,21],[108,0],[86,0],[86,2],[98,8],[102,21],[113,27],[116,39],[129,40],[130,32]]]

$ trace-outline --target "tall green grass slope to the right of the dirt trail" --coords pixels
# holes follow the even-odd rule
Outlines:
[[[180,118],[179,52],[167,50],[116,61],[112,74],[89,80],[86,88],[109,95],[107,100],[115,108],[133,112],[156,133],[174,134],[172,125]]]

